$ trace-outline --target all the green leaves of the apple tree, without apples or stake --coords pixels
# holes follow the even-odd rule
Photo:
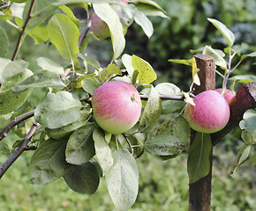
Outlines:
[[[153,26],[147,16],[166,18],[165,11],[151,0],[134,0],[129,4],[119,0],[81,0],[76,4],[71,0],[28,0],[24,1],[26,4],[13,2],[6,2],[6,7],[2,6],[4,10],[0,11],[0,18],[20,31],[10,60],[5,58],[9,49],[8,36],[0,28],[3,37],[0,57],[1,120],[13,122],[15,117],[20,119],[21,116],[25,116],[26,120],[27,113],[31,116],[33,112],[34,120],[41,126],[36,134],[31,134],[34,130],[27,127],[31,120],[26,120],[17,131],[22,140],[15,142],[12,150],[19,150],[23,146],[21,143],[33,136],[29,143],[30,147],[36,147],[30,162],[33,184],[45,184],[63,177],[72,190],[92,194],[97,190],[100,178],[104,177],[117,210],[129,209],[139,189],[139,170],[135,158],[144,151],[161,156],[163,160],[173,158],[184,151],[190,140],[190,127],[180,114],[185,105],[183,99],[192,103],[189,92],[184,93],[170,83],[154,87],[152,83],[156,74],[152,66],[137,55],[122,55],[125,46],[123,27],[135,21],[150,37]],[[84,8],[88,14],[94,10],[109,26],[113,56],[107,67],[102,67],[100,62],[84,53],[90,38],[90,20],[82,29],[79,19],[72,13],[74,6]],[[237,54],[231,48],[234,42],[232,33],[215,19],[209,20],[228,40],[230,53]],[[70,63],[64,66],[49,58],[39,57],[36,62],[41,69],[35,72],[27,69],[27,62],[16,60],[26,34],[34,39],[35,44],[49,40]],[[204,54],[214,55],[216,64],[221,67],[226,63],[222,55],[211,47],[206,47]],[[254,55],[243,55],[241,62],[246,56]],[[199,84],[195,61],[186,63],[192,64],[193,83]],[[231,70],[222,68],[225,69],[223,84],[226,84]],[[95,89],[113,79],[135,85],[143,99],[143,113],[139,122],[124,135],[102,131],[94,121],[91,107],[91,96]],[[48,93],[36,107],[24,106],[34,88],[47,88]],[[162,101],[162,98],[165,100]],[[170,118],[159,124],[162,114],[169,114]],[[255,120],[255,113],[247,113],[245,122],[240,124],[245,130],[245,140],[248,137],[255,140],[255,129],[250,118]],[[2,139],[6,135],[6,128],[9,125],[1,131]],[[196,135],[188,161],[191,183],[209,171],[210,144],[209,135]]]

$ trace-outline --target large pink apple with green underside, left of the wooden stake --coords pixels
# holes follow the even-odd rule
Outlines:
[[[94,119],[109,134],[122,134],[139,120],[141,100],[132,84],[111,81],[99,86],[92,96]]]

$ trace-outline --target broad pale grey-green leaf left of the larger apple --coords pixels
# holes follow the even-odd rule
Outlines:
[[[79,119],[81,107],[68,91],[49,93],[36,107],[34,120],[44,127],[63,127]]]

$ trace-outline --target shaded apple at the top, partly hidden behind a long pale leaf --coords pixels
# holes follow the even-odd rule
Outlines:
[[[94,12],[91,17],[91,30],[94,35],[98,37],[100,40],[106,40],[110,38],[109,26],[104,22],[99,16]]]

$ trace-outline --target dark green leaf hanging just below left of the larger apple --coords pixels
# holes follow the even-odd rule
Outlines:
[[[69,164],[85,164],[95,155],[93,132],[94,125],[87,124],[72,133],[65,150]]]

